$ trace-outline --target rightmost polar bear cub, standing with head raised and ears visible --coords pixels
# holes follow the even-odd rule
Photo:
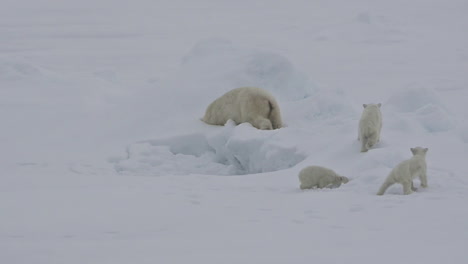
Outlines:
[[[390,174],[387,176],[387,179],[380,187],[377,195],[383,195],[388,187],[394,183],[400,183],[403,185],[403,193],[411,194],[413,191],[416,191],[416,188],[413,186],[413,179],[419,177],[421,180],[421,187],[427,187],[427,165],[426,165],[426,153],[428,148],[411,148],[413,157],[411,159],[405,160],[398,164]]]

